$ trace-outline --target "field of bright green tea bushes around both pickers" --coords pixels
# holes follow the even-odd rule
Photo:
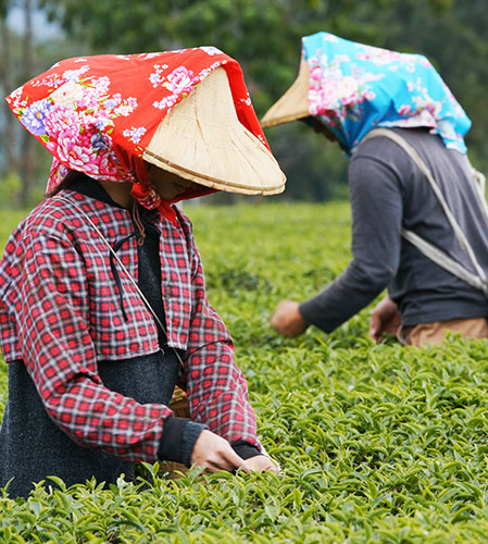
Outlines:
[[[329,336],[283,339],[267,324],[274,306],[311,296],[349,262],[348,205],[186,212],[281,473],[3,493],[0,542],[488,542],[488,343],[377,346],[371,308]],[[0,212],[0,250],[17,219]]]

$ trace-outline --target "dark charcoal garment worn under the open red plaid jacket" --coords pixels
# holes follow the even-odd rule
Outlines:
[[[91,182],[70,187],[107,201],[107,193]],[[100,193],[101,191],[101,193]],[[141,213],[143,221],[143,213]],[[146,239],[138,246],[138,285],[164,323],[161,294],[159,232],[146,222]],[[121,240],[123,242],[123,240]],[[162,350],[124,361],[99,361],[102,382],[112,391],[140,404],[167,405],[178,373],[173,349],[160,337]],[[9,363],[9,396],[0,429],[0,487],[9,486],[11,497],[27,496],[33,482],[55,475],[66,485],[98,482],[115,483],[121,474],[132,477],[134,462],[83,447],[73,442],[48,416],[23,361]],[[46,484],[53,485],[49,480]]]

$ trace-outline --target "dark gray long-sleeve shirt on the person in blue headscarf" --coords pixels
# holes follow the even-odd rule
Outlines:
[[[425,161],[450,210],[488,272],[488,227],[468,163],[424,128],[395,128]],[[396,143],[376,137],[349,164],[353,259],[323,292],[300,305],[303,319],[325,332],[374,300],[386,287],[403,325],[488,317],[485,295],[424,257],[401,237],[409,228],[474,272],[418,166]]]

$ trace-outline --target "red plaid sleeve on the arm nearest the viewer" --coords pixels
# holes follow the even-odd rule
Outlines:
[[[32,233],[23,259],[18,337],[47,412],[74,442],[127,460],[158,457],[163,405],[140,405],[100,380],[89,327],[89,279],[67,237]],[[18,254],[21,255],[21,252]]]

